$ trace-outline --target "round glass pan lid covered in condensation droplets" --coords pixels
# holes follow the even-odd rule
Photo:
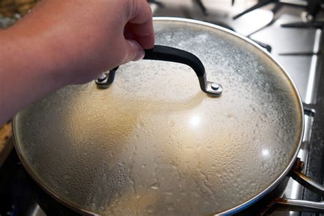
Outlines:
[[[29,174],[62,202],[103,215],[210,215],[257,198],[288,171],[303,129],[295,85],[269,55],[224,29],[154,21],[156,44],[193,53],[218,97],[184,64],[122,65],[50,94],[14,119]]]

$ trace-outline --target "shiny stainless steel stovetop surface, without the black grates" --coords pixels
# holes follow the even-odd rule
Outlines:
[[[322,183],[323,174],[323,135],[321,115],[323,109],[324,89],[320,77],[323,62],[322,29],[321,28],[286,28],[282,25],[305,22],[308,13],[305,8],[294,5],[279,5],[271,3],[257,10],[253,10],[237,19],[233,17],[252,5],[256,1],[202,1],[208,16],[199,7],[197,1],[161,1],[164,7],[156,6],[154,16],[176,16],[192,18],[208,23],[215,23],[241,33],[243,36],[258,42],[271,50],[271,55],[291,76],[299,90],[303,103],[316,109],[316,115],[309,113],[305,116],[305,135],[299,157],[306,162],[304,172],[314,180]],[[292,1],[306,3],[306,1]],[[322,21],[323,12],[316,16],[316,21]],[[269,49],[270,47],[270,49]],[[284,193],[285,198],[320,201],[321,197],[299,183],[290,180]],[[272,215],[300,215],[301,213],[275,212]],[[303,215],[310,215],[303,213]]]

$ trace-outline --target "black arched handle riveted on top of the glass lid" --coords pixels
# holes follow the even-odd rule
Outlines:
[[[155,45],[153,49],[145,50],[144,59],[186,64],[195,71],[195,75],[197,75],[199,80],[200,89],[203,92],[211,96],[219,96],[223,91],[223,87],[219,83],[207,81],[204,65],[200,59],[192,53],[170,46]],[[113,81],[111,76],[115,75],[116,70],[111,70],[108,74],[103,74],[96,79],[98,87],[109,87]],[[109,80],[111,82],[109,82]]]

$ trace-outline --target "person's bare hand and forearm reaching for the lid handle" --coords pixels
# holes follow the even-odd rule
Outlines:
[[[1,125],[50,92],[142,59],[152,12],[145,0],[42,0],[0,41]]]

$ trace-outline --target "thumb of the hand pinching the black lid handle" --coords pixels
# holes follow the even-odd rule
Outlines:
[[[144,58],[143,47],[135,40],[125,40],[125,57],[123,64],[131,61],[138,61]]]

